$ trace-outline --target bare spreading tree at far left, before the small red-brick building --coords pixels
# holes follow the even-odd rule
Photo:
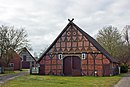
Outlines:
[[[1,60],[6,65],[13,58],[13,52],[29,46],[27,33],[24,28],[16,29],[14,26],[0,27],[0,54]]]

